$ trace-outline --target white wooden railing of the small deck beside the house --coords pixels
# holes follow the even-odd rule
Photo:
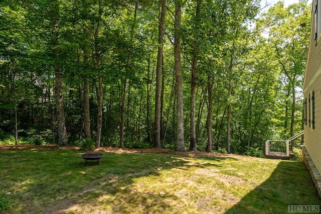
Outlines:
[[[273,151],[273,152],[286,153],[286,157],[289,157],[290,156],[289,142],[291,142],[292,140],[295,140],[301,135],[304,135],[304,131],[294,135],[293,137],[290,137],[285,141],[280,141],[280,140],[265,141],[265,155],[269,155],[270,151]]]

